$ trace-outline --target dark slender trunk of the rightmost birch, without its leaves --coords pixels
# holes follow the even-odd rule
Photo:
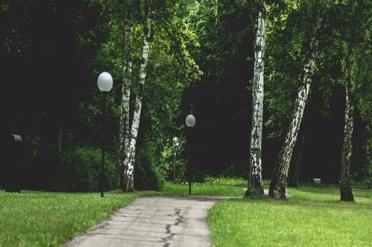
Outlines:
[[[353,192],[350,185],[350,159],[352,154],[351,138],[354,125],[354,98],[352,95],[353,81],[349,71],[349,63],[346,58],[346,109],[345,109],[345,129],[344,144],[341,151],[341,174],[340,174],[340,193],[341,201],[354,201]]]

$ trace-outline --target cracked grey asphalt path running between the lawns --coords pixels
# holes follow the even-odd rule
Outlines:
[[[144,196],[61,247],[211,247],[208,209],[226,196]]]

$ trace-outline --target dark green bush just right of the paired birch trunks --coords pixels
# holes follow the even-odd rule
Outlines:
[[[134,187],[136,190],[163,190],[165,179],[157,167],[154,151],[151,148],[138,148],[135,172]]]

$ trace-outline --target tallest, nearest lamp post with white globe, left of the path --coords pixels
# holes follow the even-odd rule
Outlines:
[[[103,92],[103,125],[102,125],[102,166],[101,166],[101,197],[103,197],[105,183],[105,134],[106,134],[106,96],[112,89],[112,76],[108,72],[102,72],[97,80],[98,88]]]

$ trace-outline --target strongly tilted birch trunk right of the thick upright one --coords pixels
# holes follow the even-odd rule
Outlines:
[[[287,180],[289,162],[291,160],[293,148],[296,144],[302,116],[304,115],[305,103],[309,94],[312,71],[314,69],[315,56],[318,51],[318,29],[320,28],[320,23],[321,19],[318,18],[310,34],[309,50],[305,56],[302,76],[297,90],[294,111],[292,113],[292,121],[289,124],[285,142],[279,152],[278,160],[276,161],[270,182],[269,196],[273,198],[285,198],[285,182]]]

